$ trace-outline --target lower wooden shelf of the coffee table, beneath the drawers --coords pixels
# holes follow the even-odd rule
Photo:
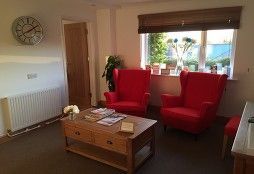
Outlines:
[[[128,172],[127,154],[120,154],[83,142],[69,144],[65,147],[65,150]],[[139,150],[135,154],[135,169],[139,168],[152,155],[153,152],[149,145],[146,145]]]

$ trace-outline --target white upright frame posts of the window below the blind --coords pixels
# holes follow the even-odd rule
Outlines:
[[[230,77],[233,78],[233,70],[234,70],[234,59],[235,59],[235,49],[236,49],[236,37],[237,37],[237,29],[234,29],[233,38],[232,38],[232,50],[230,57]],[[141,68],[145,68],[148,58],[148,34],[141,34]],[[200,44],[200,52],[199,52],[199,62],[198,62],[198,71],[202,71],[205,69],[206,63],[206,45],[207,45],[207,30],[201,31],[201,44]]]

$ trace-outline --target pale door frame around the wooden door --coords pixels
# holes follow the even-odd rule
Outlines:
[[[89,75],[90,75],[90,92],[92,93],[91,105],[97,106],[97,95],[96,95],[96,79],[95,79],[95,38],[94,28],[92,22],[89,20],[76,20],[72,17],[62,17],[61,23],[61,41],[62,41],[62,56],[63,56],[63,69],[64,69],[64,85],[65,85],[65,105],[69,104],[69,92],[68,92],[68,79],[67,79],[67,59],[66,59],[66,48],[65,48],[65,35],[64,35],[64,22],[69,23],[86,23],[87,25],[87,42],[88,42],[88,62],[89,62]]]

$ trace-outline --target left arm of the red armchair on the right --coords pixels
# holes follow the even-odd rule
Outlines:
[[[177,107],[182,105],[182,97],[181,96],[173,96],[170,94],[162,94],[162,107]]]

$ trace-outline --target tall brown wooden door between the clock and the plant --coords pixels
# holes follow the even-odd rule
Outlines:
[[[64,25],[69,103],[91,106],[86,23]]]

